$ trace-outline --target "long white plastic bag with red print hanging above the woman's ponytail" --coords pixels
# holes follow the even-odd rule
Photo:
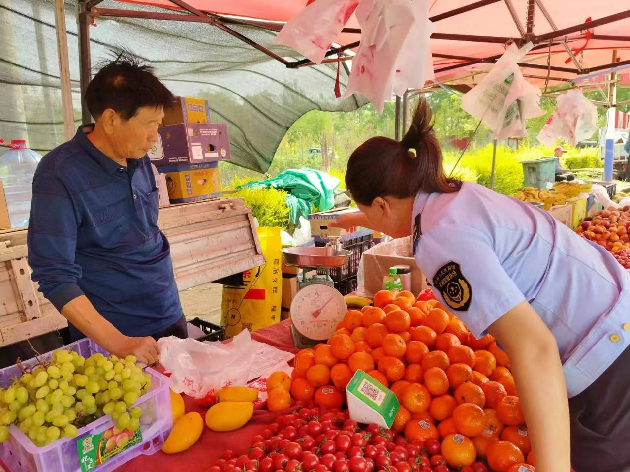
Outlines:
[[[360,0],[356,14],[361,45],[344,96],[362,93],[382,113],[392,96],[399,55],[416,22],[415,8],[411,0]]]

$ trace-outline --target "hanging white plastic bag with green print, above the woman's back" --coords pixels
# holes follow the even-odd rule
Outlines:
[[[532,49],[512,43],[496,61],[490,73],[462,98],[462,109],[493,130],[495,139],[525,137],[525,120],[542,115],[541,91],[528,83],[518,60]]]

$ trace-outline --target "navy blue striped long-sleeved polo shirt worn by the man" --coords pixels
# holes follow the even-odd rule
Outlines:
[[[124,335],[149,336],[182,314],[151,163],[120,166],[89,141],[91,130],[79,127],[35,171],[31,277],[59,311],[84,294]],[[83,337],[74,326],[71,335]]]

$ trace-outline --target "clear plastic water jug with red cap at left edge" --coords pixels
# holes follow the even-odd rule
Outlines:
[[[9,147],[8,151],[0,154],[0,180],[6,195],[11,227],[28,226],[33,175],[42,156],[28,149],[23,139],[14,139],[11,144],[0,139],[0,145]]]

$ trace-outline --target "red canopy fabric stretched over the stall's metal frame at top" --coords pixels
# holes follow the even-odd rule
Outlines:
[[[123,0],[127,3],[146,4],[161,6],[164,8],[175,8],[169,0]],[[290,20],[295,14],[306,8],[306,0],[188,0],[186,3],[198,8],[206,13],[215,13],[226,16],[239,16],[255,18],[266,21],[285,22]],[[513,12],[517,21],[522,25],[522,30],[526,28],[527,4],[528,0],[508,0],[496,1],[486,4],[481,8],[466,11],[464,13],[449,16],[449,12],[466,8],[475,2],[471,0],[433,0],[430,6],[430,16],[435,18],[435,33],[437,35],[469,35],[476,37],[499,38],[481,40],[464,40],[464,38],[444,39],[433,38],[431,43],[434,55],[433,66],[436,74],[436,82],[457,81],[459,83],[476,83],[475,76],[480,72],[488,70],[488,64],[476,64],[467,66],[469,62],[465,59],[452,59],[440,56],[459,56],[466,58],[485,58],[500,55],[505,50],[501,38],[520,38],[519,28],[510,14],[508,5],[513,6]],[[585,23],[588,18],[593,21],[600,20],[610,15],[630,11],[627,2],[619,0],[573,0],[571,3],[566,0],[540,0],[537,2],[534,26],[534,35],[546,35],[554,30],[562,30]],[[542,9],[540,8],[542,4]],[[543,11],[544,10],[544,11]],[[554,26],[546,18],[548,14]],[[440,18],[440,16],[447,18]],[[354,16],[347,25],[348,28],[358,28]],[[617,50],[617,60],[630,60],[630,41],[619,38],[604,37],[628,37],[630,35],[630,16],[625,19],[613,21],[604,25],[598,25],[590,31],[572,32],[565,36],[569,47],[576,55],[583,69],[602,66],[612,62],[612,50]],[[434,35],[435,36],[435,35]],[[438,36],[439,37],[439,36]],[[360,38],[358,34],[342,33],[337,39],[341,45],[349,44]],[[536,64],[539,67],[523,69],[526,76],[531,76],[532,83],[544,84],[547,75],[550,76],[551,83],[558,83],[562,79],[575,78],[576,74],[569,71],[551,71],[540,67],[547,66],[547,56],[549,49],[544,47],[548,42],[542,42],[539,46],[542,49],[532,51],[523,62]],[[459,67],[457,67],[459,66]],[[553,45],[551,47],[551,66],[564,67],[566,69],[576,69],[569,54],[563,45]],[[441,71],[441,69],[457,67]],[[630,67],[630,66],[629,66]],[[558,79],[558,80],[555,80]]]

